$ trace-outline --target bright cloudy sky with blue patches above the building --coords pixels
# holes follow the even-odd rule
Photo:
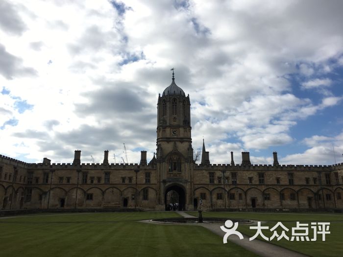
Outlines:
[[[189,93],[211,163],[343,163],[343,1],[1,0],[0,154],[129,163]],[[334,151],[335,150],[335,155]]]

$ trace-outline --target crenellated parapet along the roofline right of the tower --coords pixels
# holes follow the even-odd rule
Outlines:
[[[341,164],[333,164],[333,165],[271,165],[271,164],[196,164],[195,170],[201,169],[213,169],[213,170],[287,170],[287,171],[295,171],[295,170],[311,170],[311,171],[331,171],[334,170],[334,167],[343,168],[343,163]]]

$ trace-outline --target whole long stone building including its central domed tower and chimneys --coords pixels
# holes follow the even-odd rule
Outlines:
[[[147,163],[31,164],[0,155],[0,210],[143,208],[165,210],[178,203],[204,209],[343,209],[343,164],[210,164],[203,143],[201,164],[193,161],[191,102],[172,77],[157,102],[156,156]]]

